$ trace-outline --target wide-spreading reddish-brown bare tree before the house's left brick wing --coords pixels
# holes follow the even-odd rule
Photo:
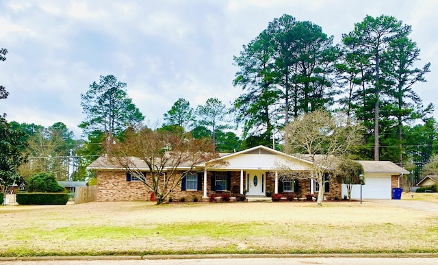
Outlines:
[[[148,128],[126,131],[113,151],[110,159],[142,181],[153,192],[157,204],[164,203],[197,164],[218,157],[211,139]],[[144,167],[149,168],[145,175]]]

